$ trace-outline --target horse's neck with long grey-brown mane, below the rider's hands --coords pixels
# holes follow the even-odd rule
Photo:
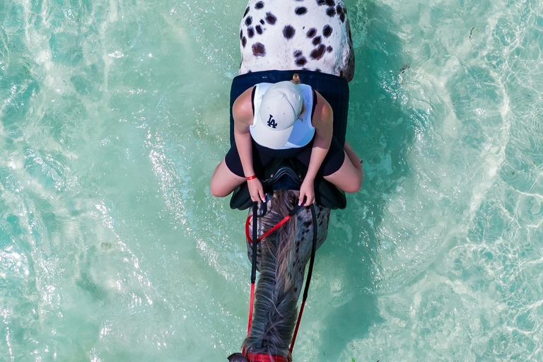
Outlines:
[[[298,210],[280,228],[257,243],[257,269],[260,274],[252,325],[243,347],[247,354],[270,354],[276,356],[276,361],[291,359],[289,346],[296,325],[297,303],[303,288],[305,267],[313,248],[314,230],[317,230],[316,247],[320,247],[327,236],[330,210],[315,206],[315,223],[310,208],[296,207],[298,196],[296,190],[269,192],[267,213],[257,217],[258,235],[262,235],[283,221],[293,209]],[[259,214],[262,209],[261,205]],[[248,230],[252,230],[253,221],[251,217]],[[247,240],[247,252],[251,260],[250,240]],[[233,354],[228,357],[228,361],[248,360],[243,354]]]

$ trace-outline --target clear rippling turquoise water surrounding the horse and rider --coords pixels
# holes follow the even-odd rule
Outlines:
[[[309,1],[309,0],[306,0]],[[542,1],[346,1],[363,190],[294,361],[543,361]],[[226,361],[244,1],[0,3],[0,361]]]

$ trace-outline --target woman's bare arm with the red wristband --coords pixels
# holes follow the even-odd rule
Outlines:
[[[235,100],[232,106],[235,146],[238,148],[245,177],[255,175],[255,169],[252,166],[252,139],[249,132],[253,119],[251,96],[252,88],[249,88]],[[266,200],[262,183],[257,178],[247,180],[247,185],[252,201]]]

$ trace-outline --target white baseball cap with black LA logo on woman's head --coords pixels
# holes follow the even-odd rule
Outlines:
[[[295,83],[283,81],[270,86],[262,95],[252,138],[261,146],[281,149],[291,136],[302,105],[302,93]]]

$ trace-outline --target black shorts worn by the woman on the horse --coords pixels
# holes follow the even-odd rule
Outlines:
[[[252,141],[252,167],[255,169],[255,173],[258,173],[259,170],[262,170],[262,168],[264,168],[274,158],[292,157],[298,158],[301,163],[308,166],[312,149],[313,141],[311,141],[307,146],[303,146],[301,148],[289,148],[286,150],[274,150],[271,148],[266,148],[260,146],[255,141]],[[345,152],[343,151],[343,146],[341,146],[339,142],[332,137],[332,143],[330,144],[330,148],[325,159],[322,161],[322,165],[320,165],[317,175],[332,175],[332,173],[335,173],[337,170],[339,170],[339,168],[341,168],[344,159]],[[235,147],[235,144],[232,144],[230,151],[226,153],[225,161],[226,166],[230,171],[232,171],[235,175],[245,177],[240,156],[238,154],[238,148]]]

